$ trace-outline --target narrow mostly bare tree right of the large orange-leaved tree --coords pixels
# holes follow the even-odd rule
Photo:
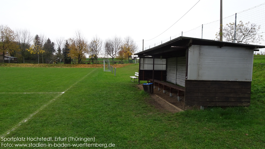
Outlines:
[[[97,58],[101,54],[101,49],[102,49],[102,40],[97,35],[95,35],[91,39],[91,42],[89,43],[89,50],[91,51],[89,57],[91,57],[91,59],[93,58],[94,60],[97,60]]]

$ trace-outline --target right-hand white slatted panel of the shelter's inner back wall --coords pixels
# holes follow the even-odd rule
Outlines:
[[[178,57],[176,84],[180,86],[185,86],[185,76],[186,76],[186,57]]]

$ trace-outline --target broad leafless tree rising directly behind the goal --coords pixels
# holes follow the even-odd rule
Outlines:
[[[112,59],[112,63],[114,64],[114,58],[121,50],[122,39],[121,37],[114,36],[112,39],[107,39],[104,45],[105,53],[109,55]]]

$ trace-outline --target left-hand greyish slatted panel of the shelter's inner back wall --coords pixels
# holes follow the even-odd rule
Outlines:
[[[166,59],[166,81],[171,83],[176,83],[176,60],[176,57]]]

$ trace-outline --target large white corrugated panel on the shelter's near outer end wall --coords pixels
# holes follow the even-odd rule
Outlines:
[[[198,80],[251,81],[253,50],[200,46]]]

